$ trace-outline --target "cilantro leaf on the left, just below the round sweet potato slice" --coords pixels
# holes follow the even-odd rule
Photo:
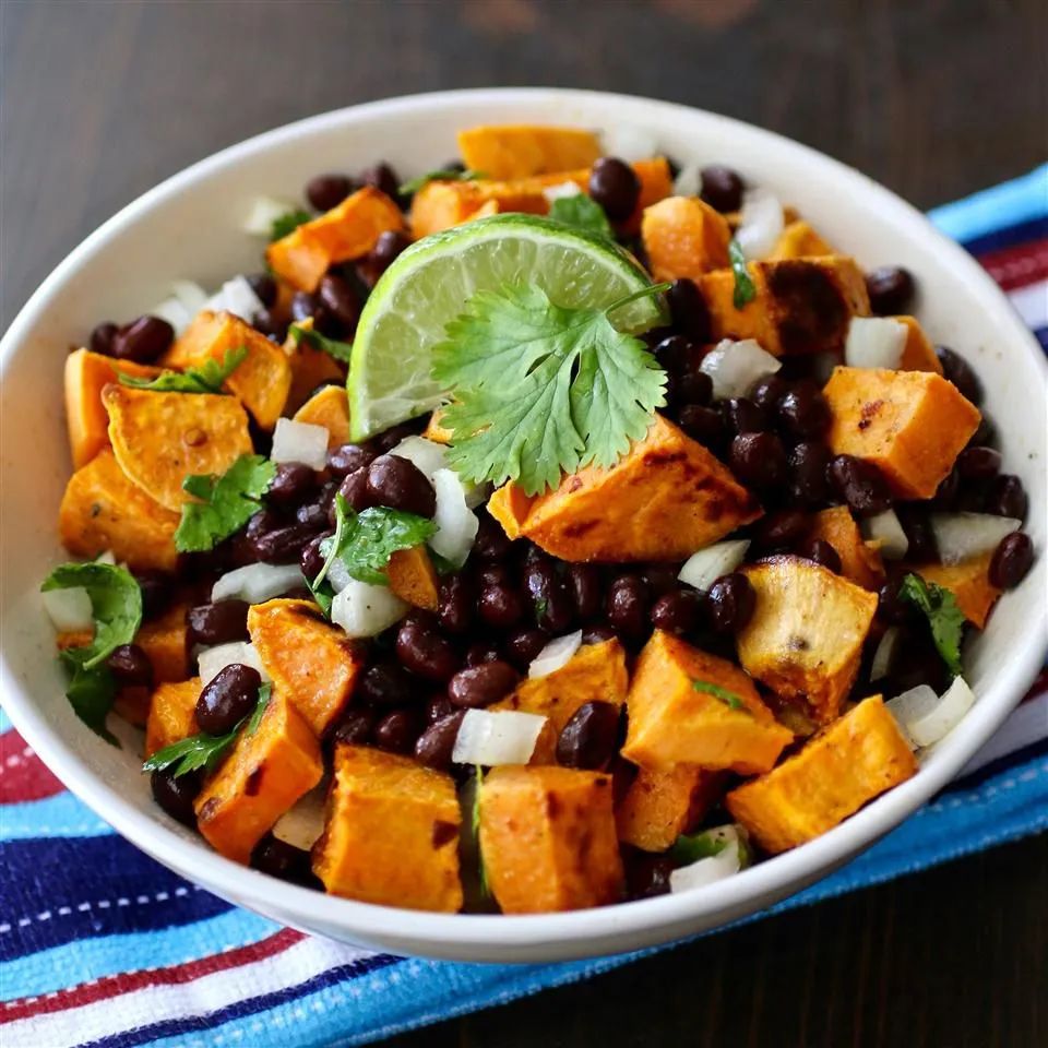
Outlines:
[[[221,477],[191,474],[182,489],[200,499],[182,505],[182,519],[175,532],[175,548],[199,552],[214,548],[241,528],[261,509],[276,466],[261,455],[241,455]]]

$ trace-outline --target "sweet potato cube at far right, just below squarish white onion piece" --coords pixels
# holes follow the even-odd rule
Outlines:
[[[834,368],[823,394],[835,455],[877,465],[903,499],[930,499],[978,429],[979,409],[929,371]]]

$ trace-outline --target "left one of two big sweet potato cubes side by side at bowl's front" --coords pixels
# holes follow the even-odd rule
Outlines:
[[[364,746],[335,747],[313,872],[333,895],[455,913],[462,908],[458,826],[450,775]]]

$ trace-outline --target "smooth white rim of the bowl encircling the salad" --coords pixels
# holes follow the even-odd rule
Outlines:
[[[44,279],[0,341],[0,378],[24,348],[26,333],[69,277],[90,265],[95,254],[124,227],[133,225],[155,205],[191,192],[213,172],[236,166],[273,146],[318,131],[332,131],[360,118],[392,116],[405,110],[416,114],[445,111],[478,102],[512,107],[553,98],[583,105],[599,102],[619,104],[623,108],[641,106],[647,111],[658,110],[667,115],[699,115],[710,121],[711,127],[720,127],[728,135],[765,141],[776,150],[793,151],[803,162],[829,169],[843,186],[868,194],[871,212],[891,212],[906,225],[921,227],[922,235],[933,242],[936,251],[949,259],[954,272],[960,272],[958,279],[981,287],[987,308],[993,310],[993,320],[1000,325],[1002,341],[1016,349],[1023,347],[1024,353],[1035,357],[1040,365],[1041,385],[1048,389],[1048,362],[1039,345],[991,277],[963,248],[939,233],[924,214],[878,182],[795,140],[698,107],[612,92],[557,87],[431,92],[348,106],[262,132],[183,168],[103,223]],[[14,727],[72,793],[142,850],[237,905],[267,915],[279,914],[282,920],[299,915],[312,933],[317,933],[313,925],[319,922],[337,927],[347,938],[365,944],[378,943],[383,948],[382,943],[391,941],[409,943],[413,952],[431,956],[469,958],[479,951],[489,956],[497,953],[505,960],[508,951],[520,948],[531,949],[522,960],[535,960],[539,954],[564,958],[665,942],[687,934],[682,925],[691,924],[693,930],[698,930],[718,922],[718,915],[723,916],[719,921],[723,922],[741,913],[754,912],[763,908],[769,900],[799,891],[872,845],[953,778],[1017,704],[1036,677],[1048,644],[1048,607],[1033,617],[1021,636],[1028,643],[1017,643],[1014,656],[1000,667],[997,675],[993,693],[1000,698],[996,698],[992,704],[977,703],[946,740],[949,745],[936,753],[930,766],[921,767],[913,778],[883,794],[822,836],[703,889],[594,909],[535,915],[433,914],[380,906],[290,885],[240,866],[211,850],[203,841],[188,843],[165,825],[158,814],[136,810],[115,788],[96,777],[47,723],[28,689],[17,682],[4,648],[0,648],[0,694]],[[621,943],[626,940],[631,944],[623,948]],[[545,952],[541,950],[544,944],[549,946]]]

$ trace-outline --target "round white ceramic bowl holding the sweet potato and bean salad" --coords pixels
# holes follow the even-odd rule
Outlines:
[[[404,176],[455,152],[455,130],[539,122],[636,128],[680,162],[724,162],[796,204],[831,242],[871,267],[917,276],[917,312],[931,336],[962,350],[986,385],[1004,461],[1029,492],[1027,528],[1040,558],[973,645],[979,696],[920,773],[812,843],[698,891],[570,914],[419,914],[293,888],[211,851],[153,805],[135,752],[91,734],[63,698],[51,629],[38,596],[63,559],[56,511],[70,472],[61,413],[62,361],[104,318],[136,315],[175,277],[217,286],[258,269],[260,243],[240,231],[258,193],[299,199],[312,175],[389,159]],[[260,135],[194,165],[90,236],[44,282],[8,331],[2,367],[3,702],[51,770],[120,833],[223,897],[334,939],[467,961],[557,961],[665,942],[752,913],[847,861],[940,789],[1029,686],[1045,651],[1046,367],[982,270],[914,209],[805,146],[695,109],[608,94],[467,91],[372,103]]]

